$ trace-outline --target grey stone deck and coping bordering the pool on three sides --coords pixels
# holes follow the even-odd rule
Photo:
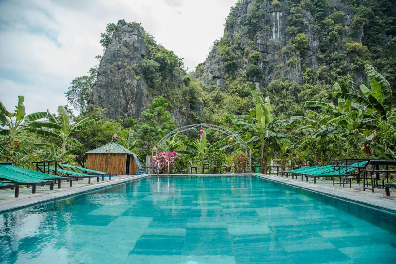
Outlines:
[[[330,195],[337,197],[339,199],[346,199],[352,202],[356,202],[362,205],[369,205],[375,208],[383,208],[396,212],[396,198],[385,198],[385,190],[374,189],[375,192],[372,193],[371,189],[367,191],[362,190],[362,186],[340,187],[333,186],[330,180],[318,179],[317,183],[305,182],[301,180],[295,180],[286,177],[272,176],[268,174],[169,174],[169,176],[241,176],[241,175],[254,175],[260,178],[272,180],[275,182],[280,182],[282,184],[287,184],[289,186],[294,186],[302,189],[307,189],[314,191],[316,193],[322,193],[324,195]],[[87,191],[94,191],[97,189],[102,189],[105,187],[113,186],[116,184],[122,184],[132,180],[137,180],[150,176],[150,174],[143,175],[120,175],[112,177],[111,180],[105,178],[105,181],[96,182],[94,179],[91,184],[88,184],[88,180],[73,181],[73,187],[69,187],[68,182],[62,183],[62,188],[57,189],[56,186],[51,191],[49,186],[37,187],[37,192],[32,194],[31,188],[20,188],[19,198],[15,198],[13,190],[3,190],[0,192],[0,212],[18,209],[22,207],[27,207],[37,203],[44,203],[51,200],[61,199],[69,197],[71,195],[77,195],[85,193]],[[156,175],[152,175],[156,176]],[[168,176],[161,175],[160,176]],[[392,192],[391,192],[392,195]],[[393,195],[396,196],[393,190]]]

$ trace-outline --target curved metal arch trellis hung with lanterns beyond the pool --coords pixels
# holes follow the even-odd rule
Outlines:
[[[179,134],[181,132],[198,129],[198,128],[208,128],[211,130],[217,130],[219,132],[223,132],[227,136],[234,138],[234,140],[236,140],[236,142],[238,142],[245,149],[245,153],[249,157],[249,165],[246,164],[246,172],[251,171],[251,149],[250,149],[249,145],[247,145],[247,143],[244,140],[242,140],[242,138],[238,134],[235,134],[233,131],[231,131],[227,128],[224,128],[222,126],[217,126],[214,124],[192,124],[192,125],[188,125],[188,126],[179,127],[177,129],[169,132],[168,134],[166,134],[164,136],[164,138],[162,138],[160,141],[158,141],[156,143],[156,145],[154,146],[156,148],[155,154],[157,155],[157,151],[159,149],[161,149],[162,145],[164,145],[166,140],[171,138],[174,134]],[[152,150],[152,154],[153,154],[153,150]]]

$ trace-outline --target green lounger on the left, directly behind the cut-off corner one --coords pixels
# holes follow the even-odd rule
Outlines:
[[[50,189],[53,190],[53,180],[43,180],[35,176],[30,176],[21,172],[15,172],[7,168],[11,163],[0,163],[0,180],[10,181],[10,184],[32,186],[32,193],[36,193],[36,186],[44,186],[50,184]],[[12,164],[11,164],[12,165]]]

